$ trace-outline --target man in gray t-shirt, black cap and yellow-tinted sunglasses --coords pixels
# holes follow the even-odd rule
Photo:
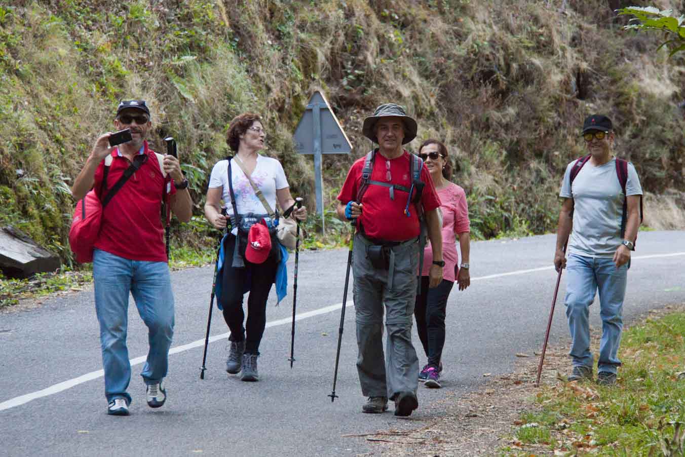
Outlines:
[[[593,378],[588,316],[599,292],[602,337],[597,382],[614,384],[621,365],[617,353],[623,330],[626,274],[640,225],[643,192],[633,164],[619,164],[621,160],[612,155],[614,132],[607,116],[588,116],[583,136],[589,156],[566,166],[559,193],[563,203],[554,266],[557,271],[566,267],[564,245],[568,241],[565,304],[573,338],[569,381]],[[617,170],[617,166],[621,168]],[[625,193],[619,175],[625,175]]]

